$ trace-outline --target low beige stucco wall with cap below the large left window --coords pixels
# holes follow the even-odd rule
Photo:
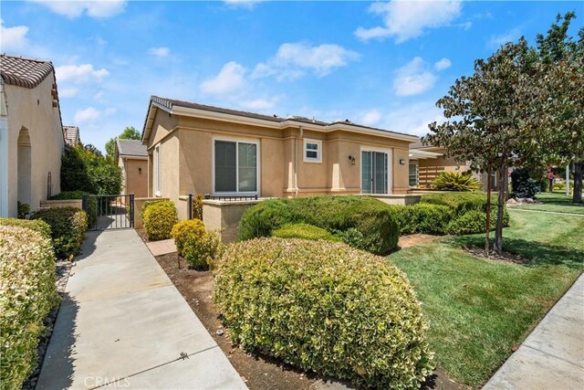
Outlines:
[[[224,244],[235,242],[239,236],[239,222],[245,210],[261,202],[203,200],[203,222],[207,230],[216,230]],[[186,203],[186,202],[185,202]]]

